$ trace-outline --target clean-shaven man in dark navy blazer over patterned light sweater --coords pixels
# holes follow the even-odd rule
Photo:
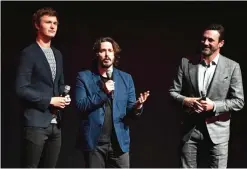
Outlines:
[[[24,106],[25,168],[37,168],[41,154],[42,167],[54,168],[61,147],[60,114],[70,104],[64,91],[62,54],[51,47],[58,19],[51,8],[42,8],[33,15],[37,29],[36,42],[21,52],[16,78],[16,91]],[[44,150],[44,151],[43,151]]]

